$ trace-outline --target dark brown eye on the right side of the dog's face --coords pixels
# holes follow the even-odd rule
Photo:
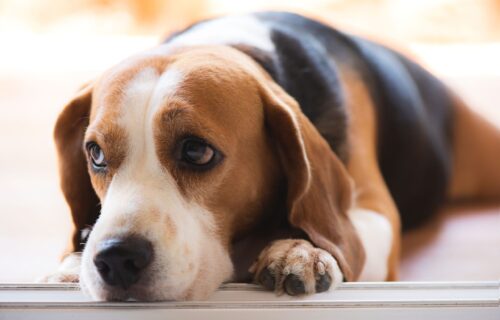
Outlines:
[[[199,138],[188,138],[182,143],[181,158],[183,161],[206,167],[214,164],[218,157],[218,151]]]

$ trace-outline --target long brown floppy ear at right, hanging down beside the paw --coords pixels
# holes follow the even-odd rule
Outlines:
[[[316,246],[330,252],[345,279],[354,281],[365,253],[347,216],[352,180],[292,97],[270,79],[262,91],[266,123],[287,176],[288,220]]]

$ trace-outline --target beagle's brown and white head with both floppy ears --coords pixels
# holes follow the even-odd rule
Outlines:
[[[206,298],[231,278],[232,241],[277,206],[348,280],[360,272],[344,167],[235,49],[131,58],[80,91],[55,138],[72,250],[93,226],[80,281],[95,299]]]

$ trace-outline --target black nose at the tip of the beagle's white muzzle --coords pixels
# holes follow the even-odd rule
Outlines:
[[[97,249],[94,264],[102,280],[123,289],[139,280],[153,256],[151,242],[139,237],[107,239]]]

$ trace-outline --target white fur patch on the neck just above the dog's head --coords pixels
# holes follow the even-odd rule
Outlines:
[[[204,44],[244,44],[274,51],[269,28],[257,18],[228,16],[203,22],[175,37],[168,47]]]

